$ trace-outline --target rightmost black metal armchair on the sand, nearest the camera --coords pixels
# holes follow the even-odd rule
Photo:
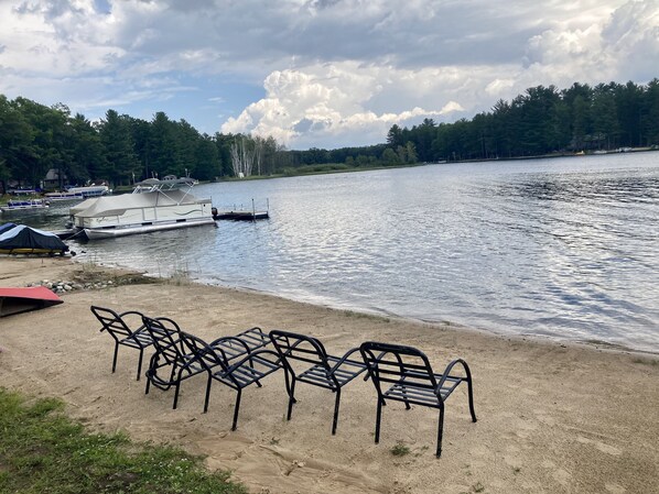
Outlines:
[[[359,348],[378,394],[375,442],[380,440],[380,419],[382,406],[388,399],[402,402],[406,409],[410,404],[439,408],[437,458],[442,454],[444,428],[444,403],[461,383],[467,384],[467,395],[472,421],[476,421],[474,395],[469,366],[462,359],[452,361],[442,374],[433,372],[428,356],[412,347],[367,341]],[[452,374],[455,366],[461,366],[464,375]],[[386,386],[389,386],[385,388]]]

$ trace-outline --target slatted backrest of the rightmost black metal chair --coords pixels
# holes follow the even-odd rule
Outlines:
[[[382,383],[395,385],[404,381],[407,386],[434,393],[437,382],[425,353],[413,347],[367,341],[359,352],[368,375],[381,394]]]

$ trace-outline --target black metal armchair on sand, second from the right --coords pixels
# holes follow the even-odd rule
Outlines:
[[[332,435],[336,433],[338,424],[338,408],[341,405],[341,389],[364,371],[363,362],[349,359],[359,351],[358,348],[348,350],[343,356],[327,354],[323,343],[316,338],[290,331],[272,330],[270,339],[282,359],[285,371],[287,391],[289,393],[289,408],[287,420],[291,419],[295,399],[295,383],[306,383],[312,386],[324,387],[336,394],[334,399],[334,417]],[[305,366],[303,371],[296,369]]]

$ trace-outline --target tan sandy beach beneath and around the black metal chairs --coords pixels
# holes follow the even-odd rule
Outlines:
[[[0,286],[117,272],[68,259],[0,257]],[[659,488],[659,358],[595,345],[491,336],[453,325],[385,319],[186,281],[75,289],[64,304],[0,319],[1,385],[57,396],[94,430],[126,430],[206,455],[253,493],[641,493]],[[334,396],[300,385],[285,420],[283,372],[245,389],[238,430],[235,392],[218,383],[203,414],[205,377],[173,392],[136,381],[138,353],[98,331],[90,305],[166,316],[212,340],[259,326],[304,332],[343,354],[366,340],[424,351],[441,372],[455,358],[472,367],[478,421],[466,388],[446,403],[442,458],[434,455],[436,410],[391,403],[374,443],[376,393],[356,380]],[[391,453],[397,443],[410,452]]]

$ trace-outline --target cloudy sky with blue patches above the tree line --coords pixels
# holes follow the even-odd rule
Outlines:
[[[288,149],[659,77],[659,0],[0,0],[0,94]]]

